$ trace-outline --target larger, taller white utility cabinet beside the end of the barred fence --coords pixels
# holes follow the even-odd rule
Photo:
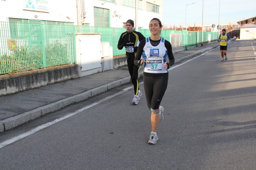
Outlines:
[[[100,33],[76,34],[76,61],[79,77],[102,71]]]

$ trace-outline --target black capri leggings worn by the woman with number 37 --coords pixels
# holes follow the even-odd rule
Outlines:
[[[144,73],[144,90],[148,108],[151,109],[151,111],[159,109],[161,100],[166,92],[168,77],[169,73]]]

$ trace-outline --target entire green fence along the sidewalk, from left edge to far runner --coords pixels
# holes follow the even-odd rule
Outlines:
[[[73,26],[72,23],[40,20],[10,19],[0,22],[0,75],[38,68],[76,63],[76,33],[101,33],[101,42],[109,42],[113,55],[125,54],[117,43],[125,28]],[[139,29],[145,37],[149,29]],[[185,49],[199,46],[201,32],[162,30],[161,36],[169,40],[170,34],[182,33]],[[203,42],[216,40],[218,33],[203,33]]]

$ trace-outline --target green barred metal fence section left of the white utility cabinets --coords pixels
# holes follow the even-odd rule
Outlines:
[[[0,22],[0,74],[75,63],[73,24],[10,19]]]

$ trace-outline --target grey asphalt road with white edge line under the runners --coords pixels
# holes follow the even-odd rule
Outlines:
[[[1,134],[0,169],[255,169],[255,47],[174,65],[155,145],[144,94],[132,105],[126,84]]]

